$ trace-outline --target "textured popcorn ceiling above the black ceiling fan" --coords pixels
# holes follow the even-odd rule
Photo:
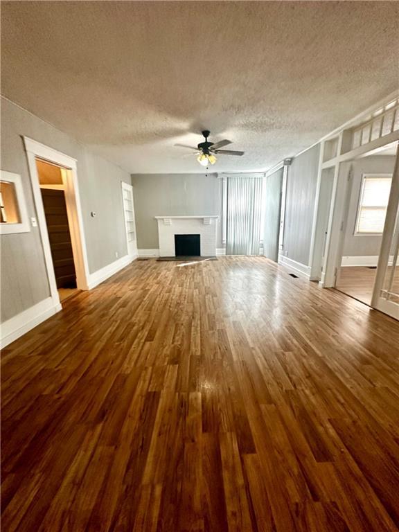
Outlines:
[[[399,85],[398,2],[1,2],[2,94],[130,172],[263,170]]]

